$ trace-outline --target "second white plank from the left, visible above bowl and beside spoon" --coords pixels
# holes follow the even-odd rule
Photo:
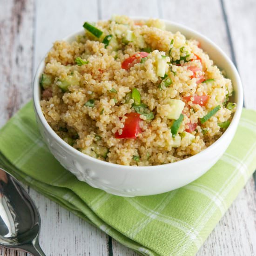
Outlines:
[[[82,29],[85,20],[97,18],[96,1],[37,0],[34,71],[55,40]],[[30,195],[39,207],[40,243],[47,255],[108,255],[105,233],[34,190]]]

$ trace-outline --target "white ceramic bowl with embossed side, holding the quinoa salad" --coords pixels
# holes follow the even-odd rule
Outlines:
[[[135,20],[146,18],[135,17]],[[224,69],[231,79],[236,91],[234,101],[237,103],[236,113],[229,128],[210,147],[197,155],[185,160],[158,166],[123,166],[95,159],[84,155],[63,141],[47,123],[40,108],[40,74],[44,69],[41,61],[34,78],[34,109],[40,133],[55,158],[80,181],[87,182],[94,188],[103,189],[108,193],[121,196],[155,195],[180,188],[211,168],[222,156],[235,135],[238,121],[243,108],[242,83],[236,67],[226,54],[211,40],[188,27],[164,20],[166,29],[172,32],[180,31],[186,38],[195,38],[201,42],[215,64]],[[77,34],[71,34],[64,40],[72,41]]]

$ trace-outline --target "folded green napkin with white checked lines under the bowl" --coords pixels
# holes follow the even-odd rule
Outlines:
[[[256,168],[256,112],[243,110],[205,175],[161,195],[120,197],[78,181],[42,141],[31,102],[0,130],[0,166],[142,255],[195,255]]]

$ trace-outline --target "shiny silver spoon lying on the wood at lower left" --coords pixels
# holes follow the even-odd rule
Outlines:
[[[45,256],[38,243],[40,216],[27,191],[0,168],[0,245]]]

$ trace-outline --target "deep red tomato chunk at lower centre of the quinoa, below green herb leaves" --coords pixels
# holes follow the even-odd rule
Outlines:
[[[115,138],[117,139],[135,139],[140,133],[140,114],[138,113],[129,113],[126,114],[127,116],[124,122],[124,128],[122,128],[122,133],[119,134],[118,132],[115,133]]]

